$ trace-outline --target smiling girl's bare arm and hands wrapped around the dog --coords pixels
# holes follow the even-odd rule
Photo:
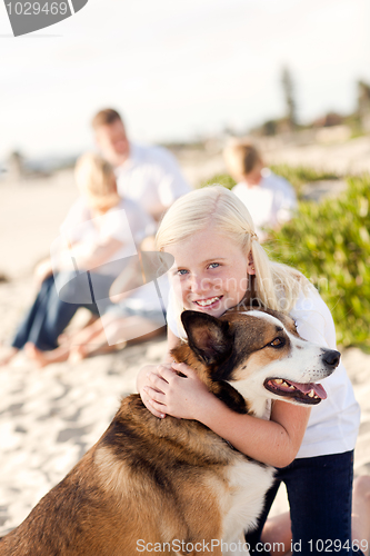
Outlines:
[[[274,467],[286,467],[301,445],[310,409],[276,400],[271,420],[237,414],[209,393],[197,374],[184,364],[170,366],[160,375],[150,374],[151,387],[144,386],[149,404],[159,414],[196,419],[230,441],[243,454]]]

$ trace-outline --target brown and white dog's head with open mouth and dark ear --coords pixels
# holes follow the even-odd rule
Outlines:
[[[317,383],[333,373],[340,354],[301,339],[290,317],[230,310],[219,319],[196,311],[181,318],[189,347],[211,379],[229,383],[254,413],[267,398],[317,405],[327,397]]]

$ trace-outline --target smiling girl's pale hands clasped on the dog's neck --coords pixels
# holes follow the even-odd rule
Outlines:
[[[180,377],[177,371],[186,376]],[[207,401],[213,398],[197,373],[184,363],[160,365],[147,377],[150,386],[146,385],[143,390],[151,407],[158,411],[157,416],[198,419]]]

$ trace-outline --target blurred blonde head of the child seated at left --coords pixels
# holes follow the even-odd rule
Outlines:
[[[120,202],[113,167],[94,152],[82,155],[74,168],[74,179],[91,209],[106,211]]]

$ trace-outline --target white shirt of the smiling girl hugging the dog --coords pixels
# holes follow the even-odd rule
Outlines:
[[[313,288],[308,297],[300,295],[290,316],[296,320],[298,332],[303,339],[336,349],[331,312]],[[171,297],[167,322],[179,337]],[[342,454],[354,448],[360,407],[344,366],[340,363],[334,373],[322,380],[322,385],[328,397],[312,407],[298,458]]]

